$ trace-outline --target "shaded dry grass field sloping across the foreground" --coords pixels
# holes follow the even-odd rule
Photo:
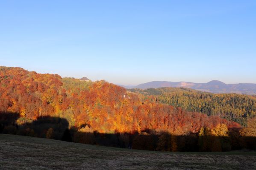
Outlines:
[[[167,153],[0,134],[0,169],[256,169],[256,152]]]

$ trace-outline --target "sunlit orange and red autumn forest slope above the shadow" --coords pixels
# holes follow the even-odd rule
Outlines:
[[[88,125],[91,131],[102,133],[162,129],[175,133],[179,130],[181,134],[197,132],[202,125],[214,127],[216,123],[212,124],[212,119],[232,125],[217,117],[187,113],[154,101],[141,104],[137,94],[105,81],[80,81],[57,74],[1,67],[0,83],[0,111],[19,113],[20,124],[41,116],[57,116],[67,119],[72,126]],[[197,121],[197,117],[208,123],[194,123],[198,124],[196,128],[193,125],[181,130],[191,121]]]

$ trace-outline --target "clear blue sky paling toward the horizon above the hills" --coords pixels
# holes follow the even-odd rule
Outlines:
[[[256,0],[1,0],[0,65],[124,85],[256,83]]]

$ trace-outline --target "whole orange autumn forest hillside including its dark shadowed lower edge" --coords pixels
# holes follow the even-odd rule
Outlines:
[[[166,151],[255,149],[247,127],[105,81],[0,67],[0,133]]]

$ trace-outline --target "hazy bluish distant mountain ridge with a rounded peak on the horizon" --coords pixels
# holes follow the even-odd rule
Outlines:
[[[256,84],[253,83],[238,83],[225,84],[218,80],[212,80],[207,83],[194,82],[167,82],[167,81],[153,81],[146,82],[136,86],[123,86],[125,88],[163,88],[163,87],[183,87],[192,88],[198,91],[206,91],[211,93],[237,93],[237,94],[256,94]]]

